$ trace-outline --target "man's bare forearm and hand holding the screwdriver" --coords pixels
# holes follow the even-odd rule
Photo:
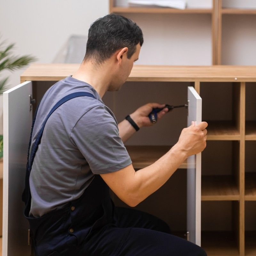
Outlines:
[[[163,108],[164,106],[165,104],[161,105],[159,103],[148,103],[135,110],[130,116],[132,120],[139,126],[139,128],[143,126],[151,126],[153,124],[148,118],[149,113],[152,111],[153,108]],[[157,113],[157,119],[161,119],[162,116],[164,116],[164,114],[167,112],[168,108],[165,108]],[[118,124],[118,130],[119,136],[121,137],[123,142],[128,140],[132,136],[132,134],[136,132],[133,126],[126,119]]]

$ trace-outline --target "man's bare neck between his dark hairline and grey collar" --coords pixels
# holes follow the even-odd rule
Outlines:
[[[102,98],[105,92],[108,91],[111,79],[111,67],[109,63],[95,65],[88,60],[82,62],[72,77],[90,84]]]

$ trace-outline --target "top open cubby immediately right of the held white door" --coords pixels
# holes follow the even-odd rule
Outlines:
[[[240,83],[200,83],[207,140],[240,140]],[[243,95],[242,95],[243,96]]]

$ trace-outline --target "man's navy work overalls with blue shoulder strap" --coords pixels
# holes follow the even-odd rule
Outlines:
[[[201,247],[172,236],[164,221],[138,210],[115,207],[100,175],[94,176],[81,197],[63,208],[38,218],[29,216],[29,175],[46,121],[61,104],[83,96],[95,98],[87,92],[75,92],[56,103],[45,118],[29,155],[35,113],[22,199],[36,256],[205,256]]]

